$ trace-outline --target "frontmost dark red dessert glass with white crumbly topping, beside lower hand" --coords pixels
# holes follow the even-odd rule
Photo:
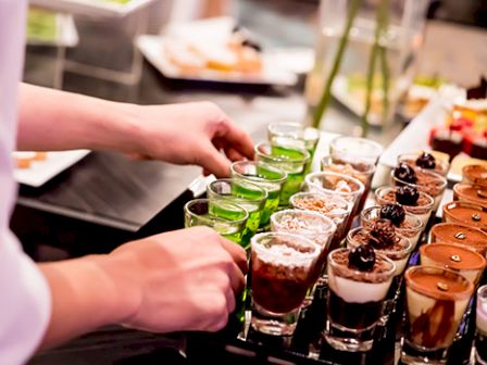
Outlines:
[[[295,332],[321,251],[302,236],[266,232],[252,237],[251,326],[255,330],[273,336]]]

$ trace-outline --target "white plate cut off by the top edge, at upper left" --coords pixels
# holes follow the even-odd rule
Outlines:
[[[153,0],[130,0],[125,4],[102,0],[30,0],[29,4],[86,16],[125,16]]]

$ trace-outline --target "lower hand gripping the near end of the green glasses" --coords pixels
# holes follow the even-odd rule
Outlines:
[[[171,332],[215,331],[245,287],[245,251],[208,227],[166,232],[123,244],[103,268],[134,301],[128,327]]]

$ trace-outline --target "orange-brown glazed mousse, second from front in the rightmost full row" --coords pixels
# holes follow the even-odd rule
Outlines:
[[[449,268],[476,285],[484,273],[486,259],[478,252],[453,243],[424,244],[420,248],[421,264]]]

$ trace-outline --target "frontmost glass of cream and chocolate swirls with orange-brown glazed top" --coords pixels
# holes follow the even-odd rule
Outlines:
[[[403,364],[446,364],[474,285],[449,269],[414,266],[405,274]]]

